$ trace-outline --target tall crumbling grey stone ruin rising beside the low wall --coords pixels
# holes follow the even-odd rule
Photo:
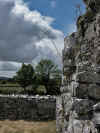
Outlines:
[[[77,32],[64,40],[58,133],[100,133],[100,0],[84,0]]]

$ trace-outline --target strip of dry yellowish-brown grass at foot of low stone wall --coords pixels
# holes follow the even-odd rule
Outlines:
[[[0,121],[0,133],[56,133],[56,122]]]

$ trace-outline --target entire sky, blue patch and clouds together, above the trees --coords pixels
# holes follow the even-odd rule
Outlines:
[[[60,66],[64,37],[76,30],[77,4],[84,12],[82,0],[0,0],[0,76],[45,58]]]

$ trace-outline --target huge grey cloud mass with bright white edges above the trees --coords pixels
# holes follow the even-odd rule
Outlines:
[[[51,26],[53,22],[54,18],[31,11],[23,0],[0,0],[0,67],[16,71],[19,67],[13,62],[37,62],[41,58],[61,64],[52,40],[61,52],[63,33]]]

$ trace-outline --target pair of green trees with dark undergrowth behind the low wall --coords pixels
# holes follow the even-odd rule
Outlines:
[[[13,79],[24,88],[25,94],[59,95],[61,73],[53,61],[42,59],[36,67],[23,63]],[[31,87],[30,91],[28,87]]]

